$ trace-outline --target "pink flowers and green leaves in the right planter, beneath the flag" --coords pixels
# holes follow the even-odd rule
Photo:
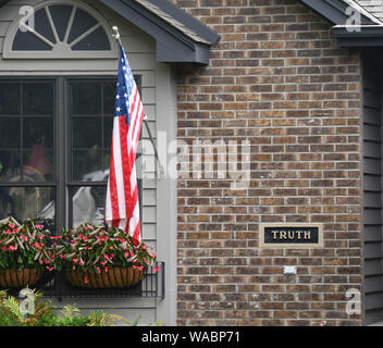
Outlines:
[[[156,261],[146,244],[135,245],[123,231],[84,224],[64,231],[53,244],[54,266],[58,270],[78,270],[101,274],[112,266],[145,270]]]

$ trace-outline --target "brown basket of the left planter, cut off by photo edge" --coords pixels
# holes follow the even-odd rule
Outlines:
[[[41,276],[42,271],[34,269],[0,271],[0,287],[3,289],[33,287]]]

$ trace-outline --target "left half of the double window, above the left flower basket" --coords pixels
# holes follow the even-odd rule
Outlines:
[[[54,94],[52,80],[0,83],[0,216],[25,220],[54,207]]]

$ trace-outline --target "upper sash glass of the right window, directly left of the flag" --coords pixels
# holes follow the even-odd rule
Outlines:
[[[107,182],[115,82],[71,82],[72,179]]]

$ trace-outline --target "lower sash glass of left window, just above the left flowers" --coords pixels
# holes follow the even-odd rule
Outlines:
[[[0,217],[54,220],[55,190],[49,187],[0,187]]]

